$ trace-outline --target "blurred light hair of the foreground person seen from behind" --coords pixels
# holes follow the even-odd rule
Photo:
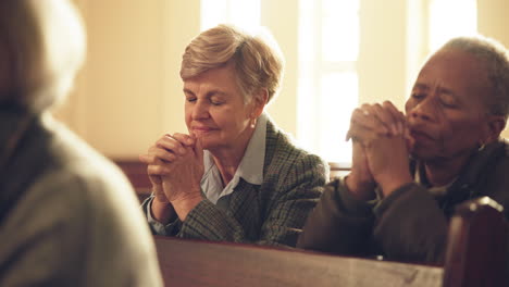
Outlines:
[[[85,59],[83,23],[67,0],[2,0],[0,41],[12,79],[0,103],[35,113],[65,98]]]

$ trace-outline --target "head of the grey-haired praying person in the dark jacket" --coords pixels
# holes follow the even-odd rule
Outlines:
[[[406,112],[420,159],[468,158],[497,140],[509,114],[507,49],[481,36],[449,40],[422,67]]]

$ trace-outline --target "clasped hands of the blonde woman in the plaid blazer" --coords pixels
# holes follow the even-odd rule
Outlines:
[[[200,180],[203,176],[203,149],[195,136],[173,134],[162,136],[139,160],[146,163],[154,200],[152,215],[166,223],[176,212],[184,221],[202,200]]]

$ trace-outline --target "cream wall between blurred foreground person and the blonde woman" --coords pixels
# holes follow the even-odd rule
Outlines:
[[[58,111],[112,158],[136,158],[160,135],[185,132],[178,77],[186,43],[199,32],[199,0],[76,0],[88,54],[75,92]]]

